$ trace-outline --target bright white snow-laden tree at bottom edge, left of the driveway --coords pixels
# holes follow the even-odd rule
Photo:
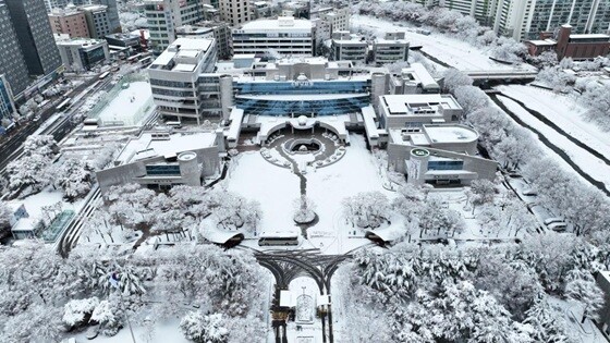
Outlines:
[[[197,343],[225,343],[229,330],[221,314],[204,315],[202,311],[186,314],[180,329],[187,340]]]

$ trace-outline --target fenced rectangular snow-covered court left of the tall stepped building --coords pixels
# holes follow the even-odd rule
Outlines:
[[[123,122],[124,125],[136,125],[142,122],[152,109],[152,93],[150,84],[138,81],[121,89],[99,113],[103,122]]]

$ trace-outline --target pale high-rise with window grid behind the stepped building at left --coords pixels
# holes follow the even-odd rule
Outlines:
[[[144,4],[150,49],[156,53],[162,52],[175,40],[176,27],[206,20],[205,5],[199,0],[145,0]]]

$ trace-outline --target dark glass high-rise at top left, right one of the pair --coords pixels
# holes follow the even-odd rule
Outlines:
[[[42,0],[4,0],[30,75],[48,75],[61,66]],[[10,78],[9,78],[10,79]]]

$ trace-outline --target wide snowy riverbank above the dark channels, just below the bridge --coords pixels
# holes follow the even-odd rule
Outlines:
[[[502,94],[517,99],[529,109],[545,115],[572,137],[610,158],[610,134],[586,121],[583,118],[586,109],[575,103],[574,99],[530,86],[510,85],[497,88]]]

